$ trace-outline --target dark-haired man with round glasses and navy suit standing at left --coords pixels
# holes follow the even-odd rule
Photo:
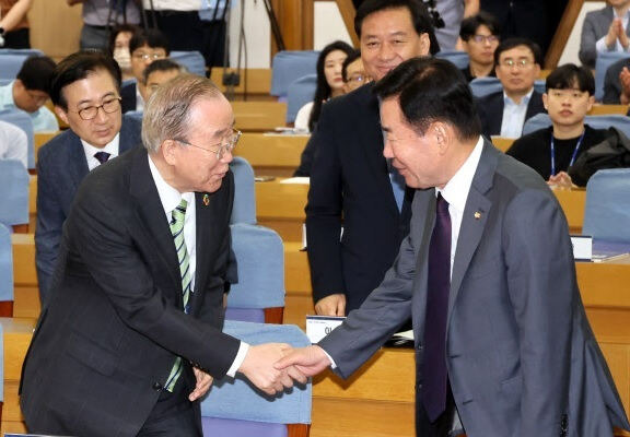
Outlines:
[[[119,90],[118,64],[96,51],[70,55],[52,78],[55,111],[70,129],[46,143],[37,160],[35,259],[43,304],[48,300],[63,222],[81,180],[140,143],[140,122],[122,117]]]

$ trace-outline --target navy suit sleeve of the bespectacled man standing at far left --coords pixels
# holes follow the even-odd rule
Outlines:
[[[47,300],[50,281],[55,272],[55,261],[59,252],[61,232],[66,214],[59,203],[54,175],[46,165],[46,158],[39,154],[37,162],[37,227],[35,231],[35,263],[39,299]]]

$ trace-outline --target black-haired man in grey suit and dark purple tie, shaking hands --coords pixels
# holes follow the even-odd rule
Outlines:
[[[277,368],[313,375],[332,365],[348,377],[411,316],[418,436],[628,429],[545,181],[480,135],[453,64],[412,59],[375,88],[384,155],[418,189],[409,237],[361,308]]]

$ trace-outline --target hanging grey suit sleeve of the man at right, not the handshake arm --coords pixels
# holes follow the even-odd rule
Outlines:
[[[508,288],[518,328],[518,436],[557,436],[567,413],[576,284],[567,220],[544,190],[510,203],[503,232]]]

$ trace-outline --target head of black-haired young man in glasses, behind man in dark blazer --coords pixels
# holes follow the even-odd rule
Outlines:
[[[499,22],[486,12],[479,12],[462,22],[459,37],[462,37],[464,50],[470,58],[470,63],[462,72],[468,82],[477,78],[497,75],[494,50],[499,46],[500,34]]]

